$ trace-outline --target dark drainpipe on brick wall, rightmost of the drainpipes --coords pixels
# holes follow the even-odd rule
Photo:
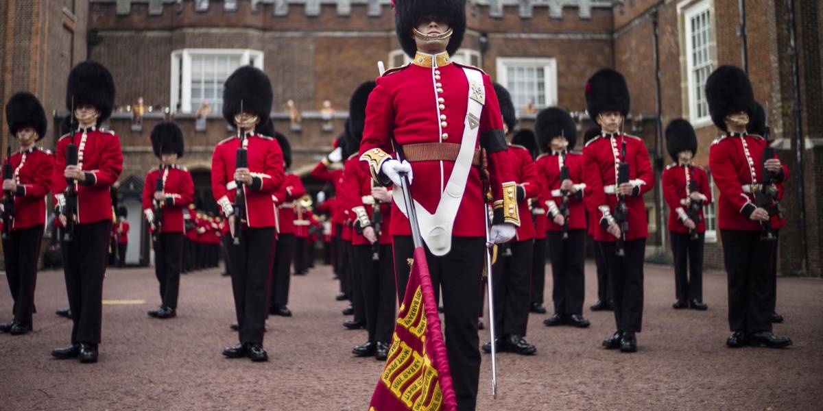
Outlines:
[[[798,73],[797,63],[797,35],[794,31],[794,0],[786,0],[786,8],[788,12],[788,39],[789,39],[789,54],[792,56],[792,84],[794,91],[794,99],[792,109],[794,118],[794,138],[795,138],[795,154],[797,155],[797,174],[800,183],[797,184],[797,196],[800,202],[800,252],[802,256],[801,273],[808,275],[807,267],[809,264],[809,251],[806,243],[806,181],[803,177],[803,130],[802,117],[800,113],[800,75]]]

